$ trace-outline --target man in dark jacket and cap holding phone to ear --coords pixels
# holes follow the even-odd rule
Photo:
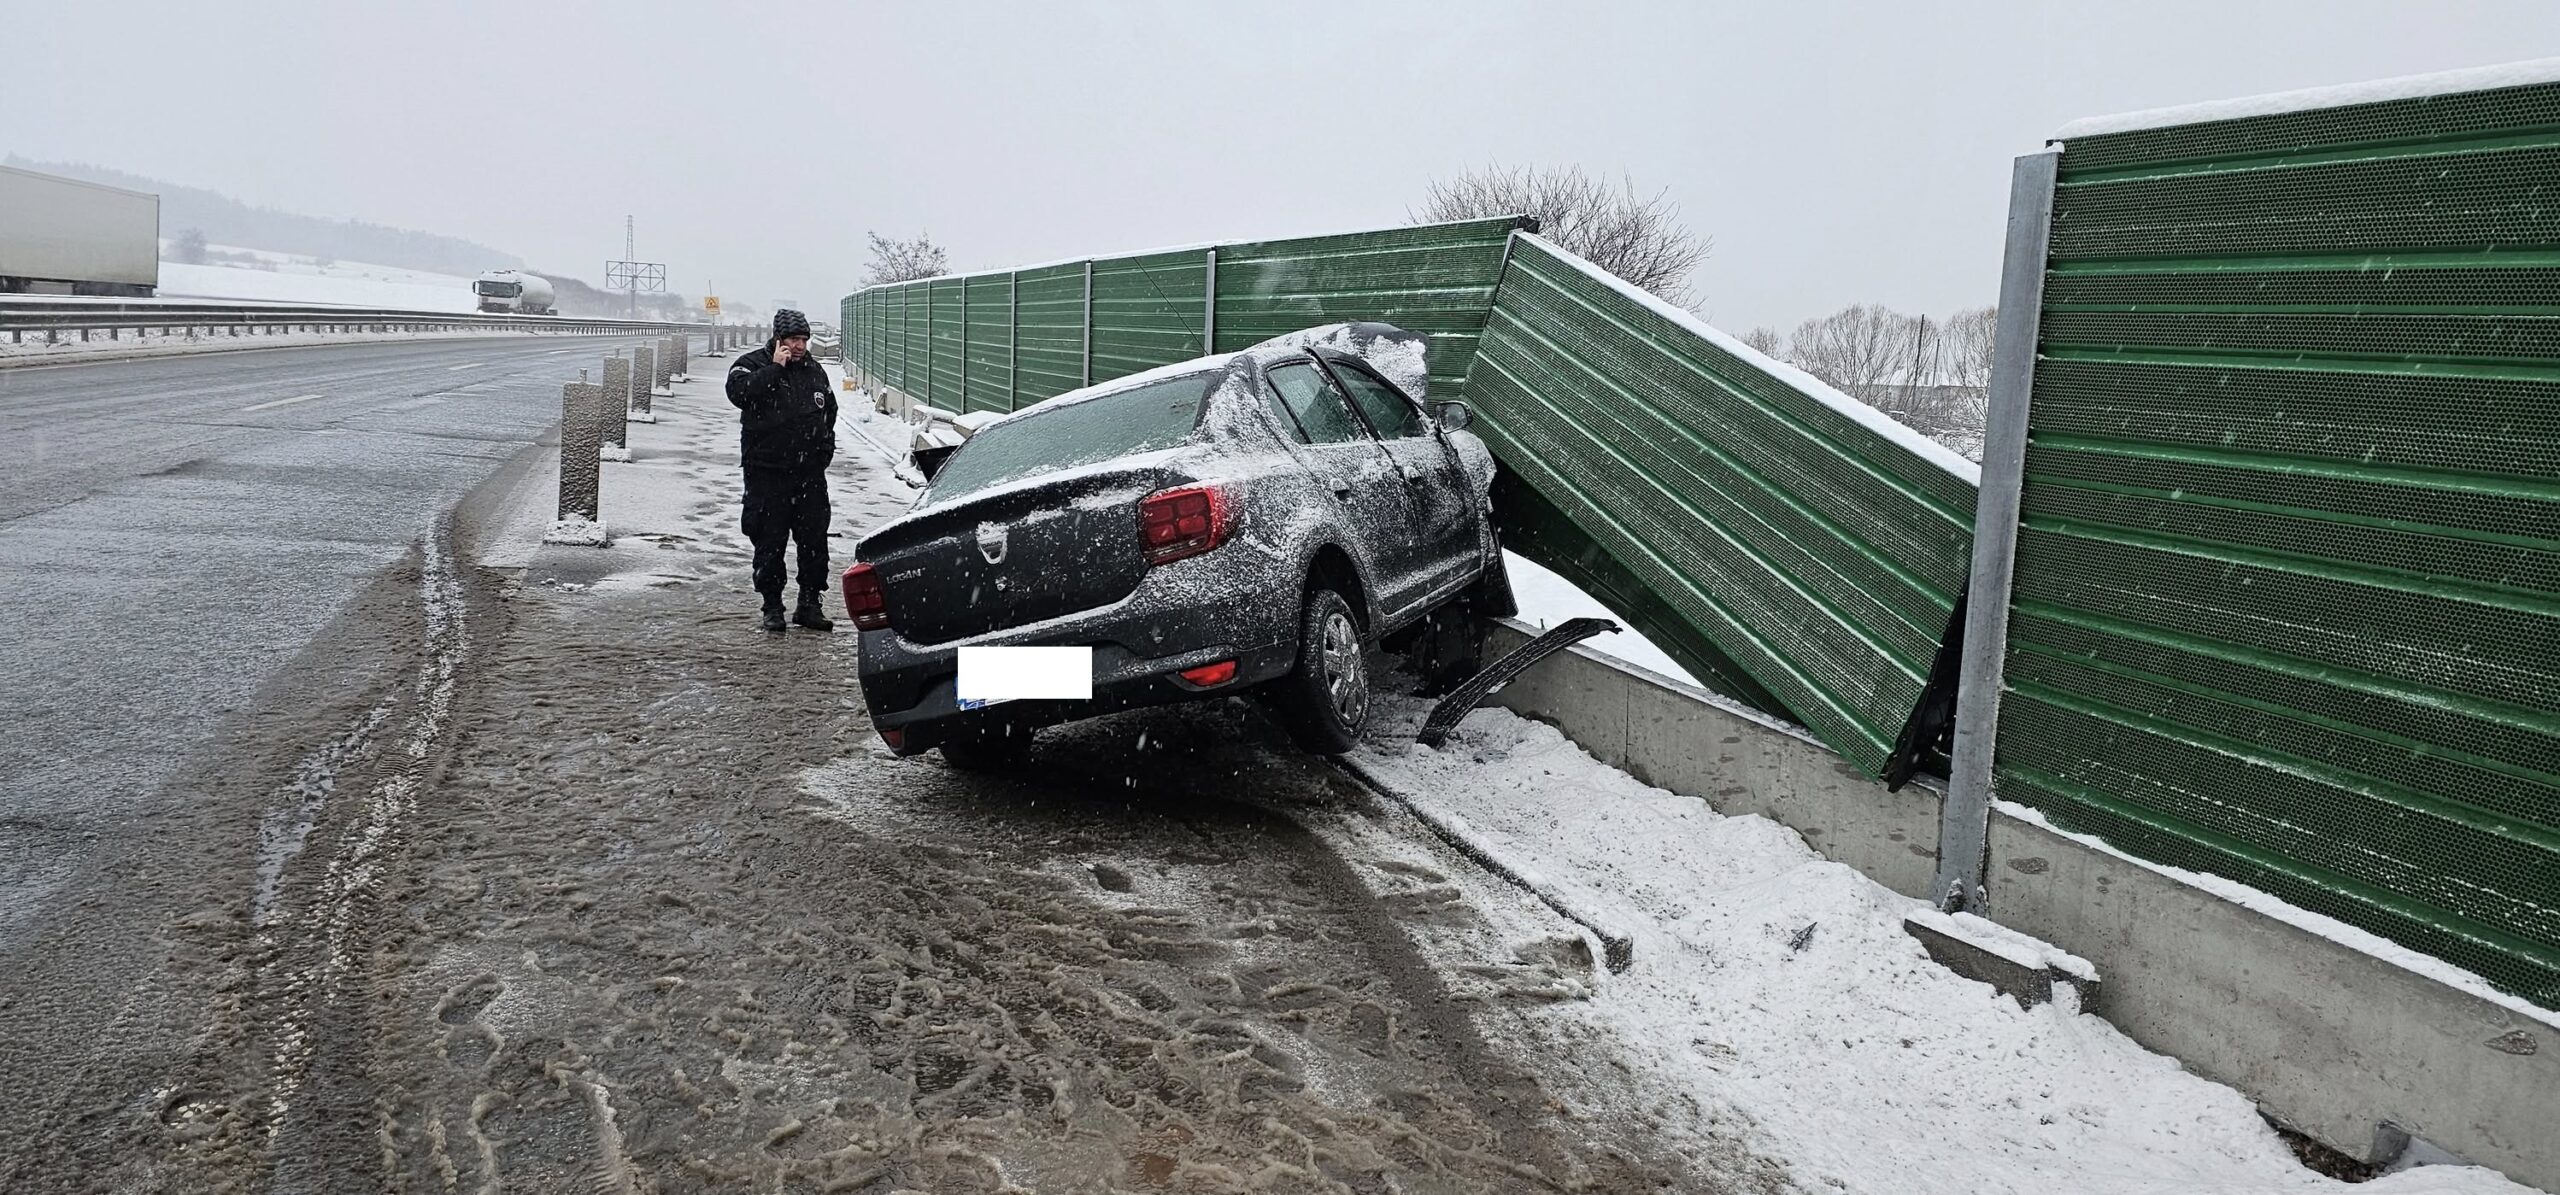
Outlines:
[[[835,461],[835,392],[809,356],[809,317],[773,312],[773,340],[730,366],[737,458],[748,466],[748,540],[765,629],[783,629],[783,545],[799,540],[801,601],[791,622],[827,622],[827,463]]]

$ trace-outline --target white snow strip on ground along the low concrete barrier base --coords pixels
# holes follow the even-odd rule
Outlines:
[[[1418,701],[1382,699],[1372,727],[1385,734],[1421,716]],[[1659,1123],[1664,1144],[1697,1149],[1741,1126],[1800,1190],[2335,1187],[2237,1090],[2097,1016],[2020,1008],[1938,967],[1902,929],[1920,901],[1823,860],[1777,821],[1720,816],[1638,783],[1505,709],[1469,714],[1436,752],[1372,737],[1359,765],[1536,860],[1544,883],[1638,937],[1636,965],[1595,972],[1587,998],[1492,1003],[1480,1016],[1490,1041],[1559,1059],[1549,1082],[1592,1116],[1636,1116]],[[1347,852],[1398,850],[1357,824],[1331,832],[1349,837]],[[1498,939],[1416,934],[1444,970],[1569,931],[1492,878],[1472,880],[1469,903]],[[2038,960],[2076,962],[2043,949]],[[2527,1187],[2427,1167],[2360,1190]]]

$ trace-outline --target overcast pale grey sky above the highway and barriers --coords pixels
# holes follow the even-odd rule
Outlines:
[[[2560,54],[2560,3],[0,3],[0,151],[832,307],[863,230],[991,269],[1403,223],[1485,161],[1667,187],[1705,315],[1992,302],[2079,115]]]

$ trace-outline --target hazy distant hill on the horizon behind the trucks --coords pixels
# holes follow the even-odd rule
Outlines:
[[[430,274],[461,274],[466,279],[484,269],[525,266],[525,261],[515,253],[499,253],[497,248],[463,241],[458,235],[251,207],[202,187],[179,187],[174,182],[146,179],[141,174],[125,174],[79,161],[28,161],[10,154],[8,164],[69,179],[102,182],[108,187],[154,192],[161,197],[161,235],[172,238],[187,228],[202,228],[205,241],[220,246],[256,246],[276,253],[305,253],[323,261],[374,261],[381,266],[422,269]]]

